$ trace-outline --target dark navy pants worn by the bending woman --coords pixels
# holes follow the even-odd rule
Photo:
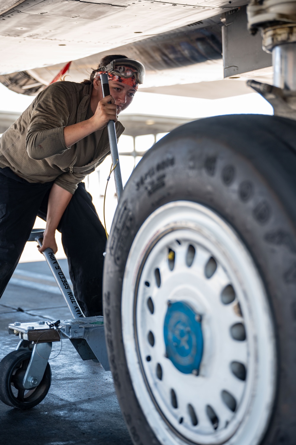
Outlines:
[[[53,182],[30,183],[0,169],[0,297],[15,270],[36,216],[46,221]],[[81,182],[58,226],[68,258],[74,295],[85,316],[102,315],[105,229]]]

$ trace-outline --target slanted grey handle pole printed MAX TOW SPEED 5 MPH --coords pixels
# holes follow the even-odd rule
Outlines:
[[[42,239],[37,238],[36,241],[39,244],[39,246],[41,247]],[[77,303],[77,300],[76,300],[76,298],[72,292],[72,289],[64,275],[64,272],[62,271],[61,266],[59,265],[55,255],[53,253],[53,250],[48,248],[48,249],[45,249],[45,251],[42,253],[45,256],[46,262],[49,265],[49,268],[53,273],[53,276],[57,282],[57,285],[61,291],[61,294],[63,295],[63,297],[66,300],[66,303],[70,309],[70,312],[71,312],[73,318],[84,317],[84,314],[81,311],[79,304]]]

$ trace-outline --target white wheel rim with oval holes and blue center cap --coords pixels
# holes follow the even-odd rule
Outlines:
[[[272,319],[255,264],[222,218],[186,201],[147,218],[126,263],[122,330],[162,444],[259,443],[275,392]]]

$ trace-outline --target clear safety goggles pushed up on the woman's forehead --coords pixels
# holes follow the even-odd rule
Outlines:
[[[138,84],[144,83],[145,67],[134,59],[115,59],[106,66],[101,66],[100,71],[115,74],[121,77],[135,77]]]

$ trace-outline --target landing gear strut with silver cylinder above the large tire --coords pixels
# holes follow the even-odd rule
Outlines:
[[[296,120],[296,2],[252,0],[247,16],[251,33],[260,30],[263,49],[272,53],[274,86],[248,85],[270,102],[275,116]]]

